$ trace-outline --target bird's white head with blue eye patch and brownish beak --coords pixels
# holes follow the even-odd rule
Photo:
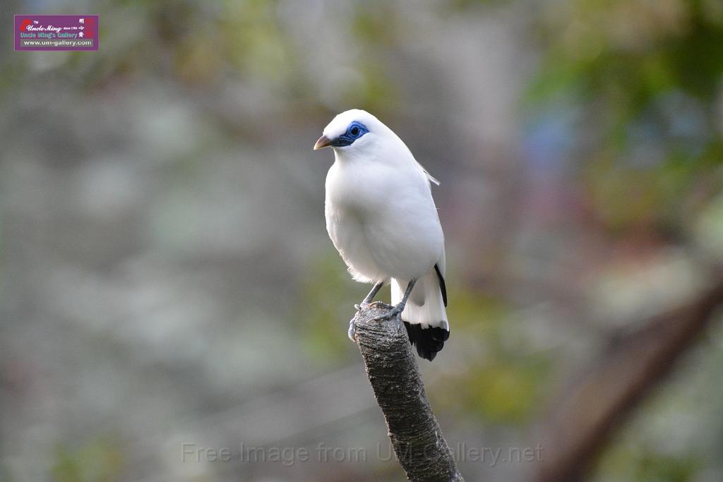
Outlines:
[[[383,134],[384,127],[379,119],[367,111],[352,109],[342,112],[324,128],[322,137],[314,145],[314,150],[324,147],[333,147],[334,150],[359,150]]]

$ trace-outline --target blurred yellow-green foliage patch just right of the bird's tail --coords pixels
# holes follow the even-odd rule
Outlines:
[[[552,374],[552,359],[531,348],[525,328],[504,301],[474,291],[455,289],[448,315],[464,369],[445,373],[431,397],[459,416],[491,423],[529,422],[542,406]],[[444,394],[454,394],[453,399]]]

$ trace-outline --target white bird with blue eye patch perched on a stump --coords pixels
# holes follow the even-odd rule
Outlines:
[[[351,276],[375,283],[361,306],[391,283],[390,311],[431,361],[449,337],[445,241],[430,181],[402,139],[372,114],[353,109],[325,127],[314,149],[332,147],[326,228]],[[405,289],[406,288],[406,289]],[[378,304],[378,303],[377,303]],[[354,340],[354,324],[349,326]]]

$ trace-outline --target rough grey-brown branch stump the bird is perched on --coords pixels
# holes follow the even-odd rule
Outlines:
[[[406,330],[368,308],[354,317],[357,343],[395,455],[411,481],[464,481],[429,408]]]

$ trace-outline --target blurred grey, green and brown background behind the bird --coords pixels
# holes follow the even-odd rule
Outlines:
[[[468,481],[543,480],[568,432],[596,441],[576,480],[723,480],[717,298],[683,341],[645,330],[719,283],[720,1],[4,12],[100,14],[100,50],[0,38],[1,481],[403,480],[312,151],[348,108],[441,181],[452,331],[419,364]],[[675,349],[645,358],[641,332]],[[579,395],[620,360],[599,393],[628,395]]]

